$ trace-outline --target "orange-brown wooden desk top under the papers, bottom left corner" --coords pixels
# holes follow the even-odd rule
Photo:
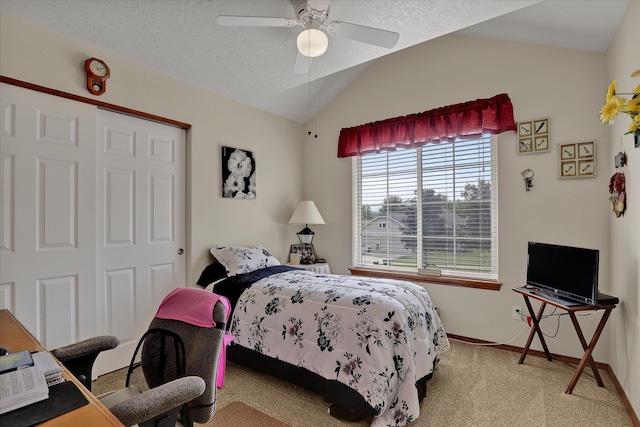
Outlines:
[[[21,350],[45,351],[40,342],[16,319],[9,310],[0,310],[0,345],[7,347],[12,353]],[[60,362],[58,362],[60,363]],[[60,364],[62,366],[62,364]],[[63,366],[64,368],[64,366]],[[40,426],[123,426],[118,420],[80,381],[66,368],[62,371],[68,381],[73,381],[82,391],[89,403],[59,417],[53,418]]]

